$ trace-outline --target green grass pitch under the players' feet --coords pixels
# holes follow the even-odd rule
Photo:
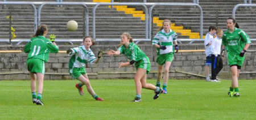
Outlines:
[[[168,94],[153,100],[154,91],[135,97],[133,80],[90,80],[105,101],[96,101],[78,80],[45,80],[44,106],[32,104],[30,81],[0,81],[0,119],[256,119],[256,80],[240,80],[241,96],[228,97],[230,80],[169,80]],[[155,80],[148,80],[155,84]]]

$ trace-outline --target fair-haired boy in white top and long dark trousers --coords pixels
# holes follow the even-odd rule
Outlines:
[[[222,43],[222,36],[223,32],[221,29],[217,29],[217,37],[212,41],[212,47],[210,52],[211,60],[212,60],[212,82],[219,82],[216,80],[216,76],[221,71],[223,67],[222,58],[221,58],[221,43]]]

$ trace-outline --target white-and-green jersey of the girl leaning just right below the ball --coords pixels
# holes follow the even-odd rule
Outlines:
[[[90,48],[85,49],[85,46],[79,46],[78,48],[72,48],[72,53],[69,54],[71,59],[69,59],[69,72],[72,73],[73,68],[84,67],[87,62],[93,64],[96,60],[95,55],[93,54]]]

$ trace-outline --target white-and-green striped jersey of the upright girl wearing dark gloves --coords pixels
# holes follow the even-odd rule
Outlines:
[[[159,31],[153,38],[152,45],[158,44],[158,45],[166,46],[165,50],[161,50],[160,48],[157,48],[158,55],[171,53],[171,52],[174,52],[174,48],[172,47],[172,45],[174,44],[173,42],[176,41],[176,39],[177,39],[177,33],[172,31],[172,29],[170,29],[169,33],[166,33],[164,29],[162,29],[162,31]]]

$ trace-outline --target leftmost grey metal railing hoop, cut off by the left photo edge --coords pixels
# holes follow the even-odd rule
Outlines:
[[[36,15],[36,7],[34,5],[34,3],[32,2],[0,2],[0,5],[31,5],[31,7],[33,8],[34,10],[34,32],[36,32],[36,28],[38,27],[37,24],[36,24],[36,18],[37,18],[37,15]]]

